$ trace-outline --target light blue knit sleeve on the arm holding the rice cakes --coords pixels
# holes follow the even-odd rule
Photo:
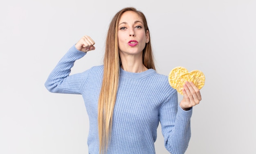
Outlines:
[[[177,91],[162,104],[159,120],[166,150],[171,154],[184,154],[191,137],[192,108],[184,111],[178,105]]]

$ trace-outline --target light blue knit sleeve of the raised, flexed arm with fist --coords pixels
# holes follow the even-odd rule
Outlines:
[[[80,87],[88,71],[74,75],[69,74],[74,62],[85,54],[85,52],[77,50],[75,45],[72,46],[49,74],[45,82],[46,89],[52,93],[81,94]]]

